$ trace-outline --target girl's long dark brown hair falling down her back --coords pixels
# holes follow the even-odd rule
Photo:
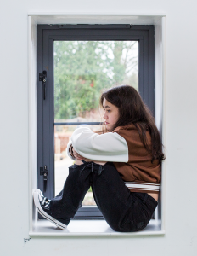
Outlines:
[[[101,106],[103,106],[104,98],[119,108],[120,119],[115,123],[113,130],[118,126],[135,125],[144,147],[152,154],[152,162],[155,159],[164,160],[166,157],[162,152],[160,133],[149,108],[144,104],[138,91],[130,85],[120,85],[102,93]],[[146,131],[149,131],[151,137],[151,148],[147,143]]]

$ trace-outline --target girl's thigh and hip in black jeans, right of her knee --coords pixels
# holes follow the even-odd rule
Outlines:
[[[121,232],[144,229],[157,201],[146,193],[131,193],[113,164],[99,169],[94,165],[93,196],[110,227]]]

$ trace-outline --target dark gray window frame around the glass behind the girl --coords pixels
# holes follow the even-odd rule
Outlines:
[[[43,191],[40,168],[48,167],[44,193],[54,197],[53,41],[54,40],[138,40],[138,88],[144,102],[155,113],[155,28],[121,25],[38,25],[37,26],[37,182]],[[46,99],[43,100],[39,73],[47,71]],[[97,123],[94,123],[96,125]],[[83,125],[82,123],[78,125]],[[89,125],[91,125],[89,123]],[[103,218],[98,207],[81,207],[75,218]]]

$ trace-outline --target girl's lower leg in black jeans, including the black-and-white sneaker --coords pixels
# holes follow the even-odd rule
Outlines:
[[[44,197],[39,189],[33,192],[37,211],[61,230],[65,230],[70,219],[82,206],[82,200],[92,180],[92,165],[93,163],[85,163],[82,166],[71,166],[64,189],[52,200]]]

